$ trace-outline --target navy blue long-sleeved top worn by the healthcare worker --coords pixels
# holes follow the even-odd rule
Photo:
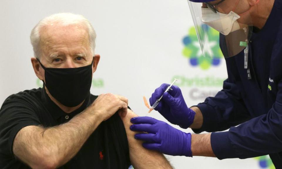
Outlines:
[[[244,51],[226,58],[228,79],[223,89],[197,105],[204,122],[194,132],[230,128],[211,135],[212,149],[219,159],[269,154],[276,168],[282,168],[281,7],[282,0],[275,0],[265,26],[251,36],[248,60],[251,79],[248,80],[244,69]],[[220,47],[226,50],[223,35]]]

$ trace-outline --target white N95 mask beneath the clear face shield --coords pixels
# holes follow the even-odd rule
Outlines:
[[[228,14],[220,12],[214,13],[208,8],[202,8],[202,22],[223,35],[228,35],[230,32],[240,29],[239,23],[237,22],[239,18],[240,16],[233,11]]]

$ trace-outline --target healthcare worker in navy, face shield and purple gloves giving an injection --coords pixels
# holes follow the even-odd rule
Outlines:
[[[151,117],[132,118],[135,138],[147,149],[173,156],[252,158],[269,154],[282,168],[282,0],[189,0],[200,45],[211,50],[207,26],[220,32],[228,78],[215,97],[187,107],[181,90],[162,84],[150,98],[170,123]],[[229,129],[230,128],[230,129]],[[224,131],[229,129],[229,131]],[[215,132],[223,131],[223,132]]]

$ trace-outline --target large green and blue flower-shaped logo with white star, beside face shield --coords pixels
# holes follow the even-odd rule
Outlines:
[[[219,47],[219,32],[203,24],[201,30],[207,32],[206,43],[208,48],[204,48],[207,57],[204,57],[198,41],[197,33],[194,27],[188,31],[188,35],[183,38],[184,49],[182,54],[189,59],[192,66],[199,66],[207,70],[212,66],[218,66],[223,58]]]

